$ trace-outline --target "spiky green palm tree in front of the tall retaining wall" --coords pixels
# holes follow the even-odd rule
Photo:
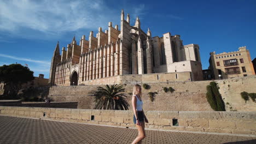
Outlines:
[[[125,91],[122,85],[106,85],[105,88],[97,87],[95,92],[95,107],[94,109],[103,110],[129,110],[129,103],[125,100],[126,95],[122,92]]]

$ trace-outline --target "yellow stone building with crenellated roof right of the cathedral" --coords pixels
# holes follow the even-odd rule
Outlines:
[[[231,79],[255,75],[252,59],[246,46],[235,52],[210,53],[209,59],[212,77],[215,79]]]

